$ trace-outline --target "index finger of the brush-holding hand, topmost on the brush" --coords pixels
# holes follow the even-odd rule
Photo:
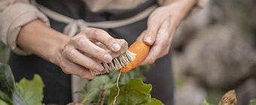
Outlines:
[[[114,52],[117,52],[120,50],[120,44],[117,43],[117,40],[114,39],[114,37],[111,37],[111,35],[108,34],[108,32],[98,29],[98,28],[86,28],[85,34],[92,39],[99,41],[103,43],[105,46],[108,47],[108,49],[111,49]]]

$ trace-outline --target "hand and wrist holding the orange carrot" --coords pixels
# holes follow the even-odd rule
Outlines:
[[[151,65],[157,58],[168,54],[173,35],[178,25],[193,6],[193,4],[190,6],[191,2],[186,5],[188,3],[186,1],[175,1],[170,5],[158,7],[148,17],[147,30],[142,32],[137,38],[137,40],[143,40],[151,46],[148,56],[141,65]],[[184,6],[190,6],[190,8],[188,9],[188,7]]]

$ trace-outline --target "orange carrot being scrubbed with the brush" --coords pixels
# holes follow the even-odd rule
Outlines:
[[[136,41],[135,43],[133,43],[128,50],[130,52],[136,53],[136,58],[133,60],[133,62],[130,62],[130,64],[123,67],[120,71],[122,73],[126,73],[131,71],[133,68],[139,66],[142,61],[147,57],[149,49],[150,46],[142,41]]]

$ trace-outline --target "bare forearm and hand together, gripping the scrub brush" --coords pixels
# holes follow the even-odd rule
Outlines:
[[[92,79],[90,71],[102,71],[101,62],[111,62],[111,55],[96,46],[105,44],[111,51],[120,50],[117,40],[98,28],[85,28],[74,37],[69,37],[34,20],[20,30],[17,45],[62,68],[66,74]],[[50,73],[49,73],[50,74]]]

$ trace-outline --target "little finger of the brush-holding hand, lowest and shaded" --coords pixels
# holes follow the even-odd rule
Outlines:
[[[87,70],[84,67],[81,67],[80,65],[77,65],[73,62],[69,62],[68,60],[66,60],[65,58],[63,58],[63,60],[61,60],[62,65],[60,65],[60,68],[62,68],[62,71],[65,74],[74,74],[78,77],[84,78],[84,79],[93,79],[94,76],[92,76],[90,74],[90,71]]]

